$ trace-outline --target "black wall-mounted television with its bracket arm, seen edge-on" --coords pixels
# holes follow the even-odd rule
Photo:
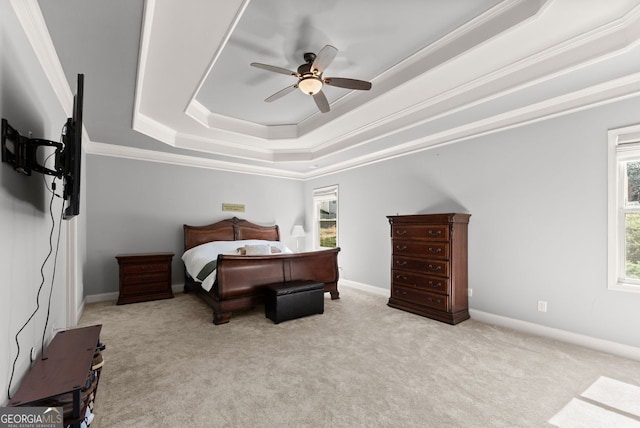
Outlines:
[[[2,162],[8,163],[24,175],[31,175],[32,171],[36,171],[64,180],[62,197],[65,206],[62,217],[65,220],[80,214],[83,93],[84,75],[78,74],[76,94],[73,98],[73,115],[65,123],[62,143],[22,136],[6,119],[2,119],[0,131]],[[55,147],[55,169],[38,163],[39,147]]]

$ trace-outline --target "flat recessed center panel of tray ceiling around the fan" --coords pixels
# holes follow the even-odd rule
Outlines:
[[[296,70],[304,53],[324,45],[339,49],[325,76],[374,80],[500,0],[388,0],[309,2],[253,1],[248,4],[196,95],[208,111],[259,125],[298,124],[318,109],[295,92],[276,104],[261,102],[296,78],[249,68],[250,62]],[[276,7],[277,5],[277,7]],[[383,20],[380,17],[385,17]],[[400,31],[399,31],[400,30]],[[331,104],[349,94],[325,87]],[[229,102],[236,98],[242,102]]]

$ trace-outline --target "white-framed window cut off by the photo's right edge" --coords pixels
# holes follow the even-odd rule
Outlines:
[[[609,289],[640,293],[640,126],[609,131]]]

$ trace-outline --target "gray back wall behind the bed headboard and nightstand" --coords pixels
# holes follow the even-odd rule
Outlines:
[[[281,240],[304,220],[300,181],[203,168],[87,156],[87,265],[85,294],[118,291],[117,254],[175,254],[173,283],[183,284],[182,225],[205,225],[233,216],[280,226]],[[222,203],[245,204],[244,213]]]

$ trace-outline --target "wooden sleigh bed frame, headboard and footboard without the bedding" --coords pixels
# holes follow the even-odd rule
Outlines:
[[[236,217],[206,226],[184,225],[185,251],[214,241],[259,239],[280,241],[277,225],[260,226]],[[215,282],[207,291],[187,272],[185,293],[194,292],[213,308],[213,323],[228,323],[232,312],[247,310],[263,302],[263,288],[268,284],[314,280],[324,283],[331,299],[338,292],[338,252],[340,248],[291,254],[233,255],[219,254]],[[212,274],[213,275],[213,274]]]

